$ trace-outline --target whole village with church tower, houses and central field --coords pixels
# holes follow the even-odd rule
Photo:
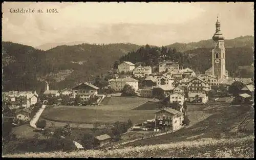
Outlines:
[[[67,125],[61,127],[72,128],[70,124],[78,124],[76,116],[73,115],[74,110],[79,112],[79,109],[83,108],[88,109],[88,111],[95,109],[104,112],[104,107],[107,107],[111,101],[121,99],[129,99],[129,101],[122,100],[121,103],[113,104],[117,107],[120,105],[117,110],[120,110],[121,106],[127,107],[130,105],[130,110],[141,105],[144,105],[145,110],[151,110],[150,112],[144,111],[141,113],[143,115],[133,115],[127,109],[124,112],[127,115],[130,114],[131,117],[127,115],[126,117],[122,117],[122,115],[109,116],[109,119],[111,119],[109,126],[122,126],[124,123],[122,124],[121,121],[125,122],[125,125],[127,122],[127,126],[124,125],[122,131],[112,130],[106,127],[103,122],[102,125],[97,124],[99,123],[97,121],[90,123],[89,120],[87,121],[88,115],[82,116],[82,122],[90,125],[88,128],[95,129],[105,126],[103,132],[93,135],[93,144],[97,148],[111,147],[131,140],[151,138],[157,136],[157,134],[163,135],[178,131],[189,125],[188,105],[207,105],[209,101],[217,103],[220,99],[223,99],[226,103],[253,104],[254,83],[252,79],[232,78],[225,69],[224,38],[220,33],[220,22],[218,20],[216,22],[216,33],[212,39],[214,40],[212,67],[204,73],[196,73],[193,68],[189,67],[181,68],[178,62],[168,59],[159,62],[158,66],[154,66],[157,68],[157,72],[153,72],[153,66],[135,65],[130,61],[123,61],[118,65],[115,77],[108,80],[109,85],[102,88],[91,82],[83,82],[71,88],[51,90],[51,84],[46,81],[45,91],[42,95],[38,95],[35,90],[3,92],[4,110],[12,110],[12,114],[4,116],[4,119],[12,121],[15,127],[28,123],[31,125],[33,121],[34,124],[37,124],[35,127],[44,130],[47,128],[46,126],[52,123],[67,123]],[[139,85],[140,80],[141,85]],[[238,83],[242,84],[242,87],[237,87]],[[108,92],[99,92],[100,89]],[[141,103],[134,102],[130,104],[132,101],[142,99],[143,102]],[[149,109],[152,107],[149,104],[153,105],[153,109]],[[46,107],[40,111],[42,106]],[[60,116],[68,117],[66,121],[56,118],[57,115],[54,116],[54,113],[62,113],[63,108],[69,109],[69,111],[72,109],[72,112],[66,112],[65,115]],[[52,110],[52,117],[50,117]],[[105,109],[106,112],[110,115],[116,113],[115,109]],[[47,115],[48,113],[49,115]],[[92,111],[91,114],[94,114],[91,119],[104,117],[96,111]],[[125,115],[125,113],[123,114]],[[39,124],[42,121],[45,122],[45,125]],[[108,120],[103,121],[107,122]],[[83,125],[83,123],[80,124]],[[109,135],[110,132],[113,135]],[[88,147],[80,146],[80,148]]]

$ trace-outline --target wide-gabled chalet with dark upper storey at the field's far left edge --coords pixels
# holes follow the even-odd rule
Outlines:
[[[72,87],[74,97],[78,96],[82,101],[88,101],[91,96],[97,96],[98,89],[99,87],[87,82]]]

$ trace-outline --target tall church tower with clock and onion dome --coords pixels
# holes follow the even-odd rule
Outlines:
[[[217,17],[216,32],[212,40],[214,40],[214,49],[212,49],[212,75],[215,75],[218,79],[227,78],[224,37],[221,33],[219,17]]]

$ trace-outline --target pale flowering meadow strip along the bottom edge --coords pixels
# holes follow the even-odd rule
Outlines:
[[[114,150],[6,154],[3,157],[254,157],[254,136],[202,139]]]

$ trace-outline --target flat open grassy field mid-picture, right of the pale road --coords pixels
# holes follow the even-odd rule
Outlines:
[[[48,108],[42,113],[42,118],[71,123],[101,124],[114,123],[116,121],[127,121],[131,119],[134,124],[142,123],[147,119],[154,118],[151,110],[98,110],[83,108]]]

